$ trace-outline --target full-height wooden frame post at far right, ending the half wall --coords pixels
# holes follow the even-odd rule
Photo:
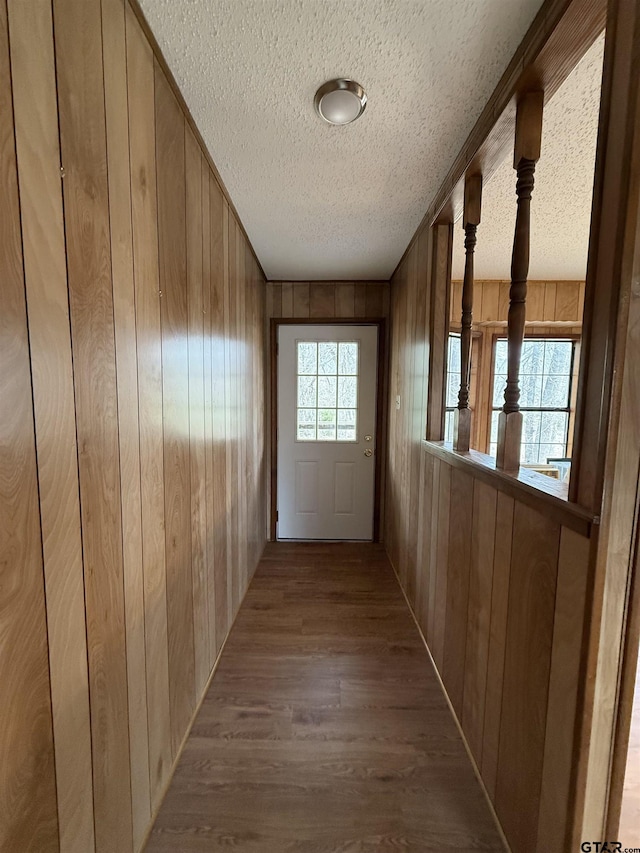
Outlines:
[[[607,825],[622,649],[626,632],[632,629],[627,620],[640,477],[639,45],[638,3],[611,0],[603,88],[602,127],[606,132],[601,133],[596,160],[596,215],[587,270],[581,363],[587,376],[578,402],[582,447],[575,484],[575,497],[585,505],[594,500],[600,503],[600,489],[606,484],[595,555],[581,756],[585,838],[594,837],[589,833],[604,832]],[[612,808],[615,813],[615,803]]]

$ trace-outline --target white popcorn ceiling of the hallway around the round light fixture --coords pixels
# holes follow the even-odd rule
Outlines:
[[[140,4],[267,276],[307,280],[388,278],[541,0]]]

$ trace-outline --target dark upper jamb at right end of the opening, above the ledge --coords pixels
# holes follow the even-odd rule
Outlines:
[[[577,400],[571,497],[598,511],[607,471],[611,407],[618,405],[614,368],[624,357],[629,276],[638,216],[638,19],[635,4],[611,0],[605,40],[593,214]],[[613,344],[613,345],[612,345]]]

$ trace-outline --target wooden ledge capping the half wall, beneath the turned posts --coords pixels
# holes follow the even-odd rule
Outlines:
[[[566,483],[520,468],[516,473],[496,470],[496,460],[486,453],[470,450],[458,453],[451,444],[443,441],[423,441],[422,449],[448,465],[465,470],[475,479],[482,480],[515,500],[538,509],[545,515],[553,514],[560,524],[570,527],[583,536],[591,535],[591,527],[599,519],[583,507],[569,501]]]

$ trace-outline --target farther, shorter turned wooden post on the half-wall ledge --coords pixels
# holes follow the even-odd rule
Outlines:
[[[453,449],[467,452],[471,442],[471,325],[473,323],[473,252],[476,229],[480,224],[482,206],[482,175],[467,175],[464,182],[464,280],[462,283],[462,320],[460,332],[460,391],[454,415]]]

